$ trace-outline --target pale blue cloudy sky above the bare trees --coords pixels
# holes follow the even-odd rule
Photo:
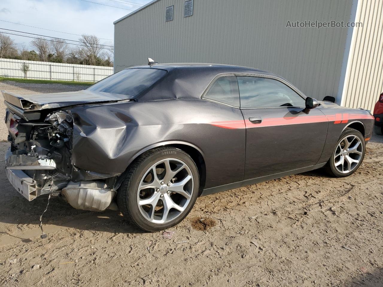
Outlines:
[[[113,22],[150,2],[150,0],[87,1],[119,8],[83,0],[0,0],[0,28],[41,34],[49,38],[70,40],[80,38],[77,35],[4,22],[9,21],[72,34],[93,34],[98,38],[104,38],[101,39],[101,44],[113,45]],[[0,32],[17,33],[1,29]],[[33,39],[15,35],[8,36],[15,40],[19,48],[25,46],[27,49],[33,49],[29,45]]]

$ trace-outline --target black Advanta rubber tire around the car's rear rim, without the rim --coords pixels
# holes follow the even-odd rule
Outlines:
[[[191,194],[191,199],[186,209],[178,217],[163,224],[152,223],[148,221],[139,210],[137,204],[138,186],[142,177],[147,173],[147,170],[157,163],[157,161],[166,158],[182,160],[188,166],[193,175],[193,193]],[[155,148],[142,154],[132,165],[130,165],[128,174],[117,192],[118,207],[122,214],[125,217],[130,217],[133,223],[139,228],[149,232],[164,230],[177,225],[188,215],[198,197],[199,183],[200,180],[197,166],[187,153],[173,147]]]

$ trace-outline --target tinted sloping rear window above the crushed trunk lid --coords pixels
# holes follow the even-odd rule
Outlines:
[[[165,74],[164,70],[152,68],[126,69],[95,83],[87,90],[127,95],[133,98],[164,77]]]

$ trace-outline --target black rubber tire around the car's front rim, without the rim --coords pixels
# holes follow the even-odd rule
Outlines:
[[[339,145],[339,143],[344,139],[344,137],[346,137],[347,135],[355,135],[357,136],[359,139],[360,139],[360,142],[362,143],[362,155],[361,155],[361,158],[359,160],[359,163],[355,166],[355,168],[348,172],[348,173],[341,173],[337,170],[337,168],[335,167],[335,163],[334,163],[334,156],[335,156],[335,152],[336,152],[336,149]],[[343,132],[342,132],[342,135],[340,135],[339,137],[339,140],[337,141],[336,143],[336,146],[334,148],[334,150],[332,151],[331,153],[331,157],[329,159],[329,161],[327,161],[327,164],[325,166],[325,170],[327,171],[328,174],[330,174],[331,176],[335,176],[335,177],[345,177],[345,176],[349,176],[351,174],[353,174],[358,168],[359,166],[362,164],[362,161],[363,161],[363,158],[364,158],[364,155],[365,155],[365,152],[366,152],[366,143],[364,141],[364,137],[363,135],[358,131],[358,130],[355,130],[355,129],[351,129],[349,127],[347,127]]]

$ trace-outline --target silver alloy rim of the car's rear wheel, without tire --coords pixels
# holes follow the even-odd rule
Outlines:
[[[142,216],[152,223],[176,219],[188,207],[193,194],[193,174],[181,160],[157,161],[142,176],[137,190],[137,205]]]

